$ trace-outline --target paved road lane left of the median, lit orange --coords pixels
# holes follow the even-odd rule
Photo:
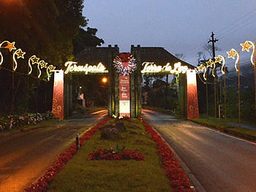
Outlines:
[[[0,192],[24,191],[75,142],[76,134],[108,115],[106,110],[63,120],[26,133],[0,136]]]

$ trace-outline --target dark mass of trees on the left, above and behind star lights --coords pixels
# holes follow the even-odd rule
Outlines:
[[[25,58],[18,60],[12,80],[12,53],[1,49],[4,63],[0,68],[0,114],[10,113],[12,105],[15,114],[51,109],[53,80],[47,82],[45,72],[38,79],[36,66],[31,75],[26,75],[31,55],[60,69],[83,47],[104,43],[96,37],[96,28],[83,29],[88,20],[82,11],[83,0],[0,1],[0,43],[16,42],[15,47],[26,52]]]

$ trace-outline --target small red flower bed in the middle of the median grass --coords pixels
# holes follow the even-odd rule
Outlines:
[[[145,157],[132,150],[124,150],[121,153],[114,153],[113,150],[98,149],[88,155],[88,160],[136,160],[145,161]]]

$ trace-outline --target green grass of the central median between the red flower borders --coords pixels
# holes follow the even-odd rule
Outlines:
[[[48,191],[171,191],[170,182],[162,169],[155,142],[138,120],[126,122],[127,131],[120,139],[99,139],[97,131],[79,152],[64,166],[50,184]],[[133,128],[134,126],[140,128]],[[130,134],[130,131],[138,134]],[[122,139],[121,139],[122,138]],[[89,153],[98,148],[126,146],[146,157],[146,161],[88,161]]]

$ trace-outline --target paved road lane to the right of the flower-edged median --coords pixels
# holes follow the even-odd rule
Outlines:
[[[206,191],[255,192],[256,145],[187,120],[143,110]]]

